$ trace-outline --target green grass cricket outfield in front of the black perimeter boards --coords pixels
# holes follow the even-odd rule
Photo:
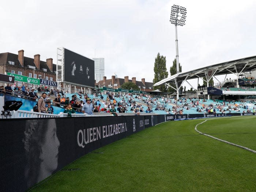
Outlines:
[[[84,155],[31,191],[256,191],[256,154],[200,135],[194,128],[204,120],[147,128]],[[212,118],[197,129],[256,150],[255,116]]]

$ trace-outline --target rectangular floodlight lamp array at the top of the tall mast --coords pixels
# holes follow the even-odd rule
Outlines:
[[[185,25],[187,9],[179,5],[173,5],[171,10],[170,22],[174,25]]]

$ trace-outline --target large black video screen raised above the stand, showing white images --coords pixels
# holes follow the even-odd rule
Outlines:
[[[94,87],[94,60],[64,49],[64,81]]]

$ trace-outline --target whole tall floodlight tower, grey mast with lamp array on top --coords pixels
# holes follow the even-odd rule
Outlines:
[[[177,35],[177,25],[183,26],[186,21],[187,10],[185,7],[180,7],[179,5],[173,5],[171,11],[170,22],[175,25],[175,36],[176,36],[176,66],[177,74],[180,72],[179,66],[179,54],[178,54],[178,35]]]

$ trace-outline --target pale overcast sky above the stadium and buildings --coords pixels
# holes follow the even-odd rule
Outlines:
[[[178,26],[182,72],[256,55],[254,0],[9,0],[1,2],[0,52],[53,58],[57,47],[104,57],[105,76],[154,78],[157,53],[170,67],[176,56],[173,4],[187,8]]]

